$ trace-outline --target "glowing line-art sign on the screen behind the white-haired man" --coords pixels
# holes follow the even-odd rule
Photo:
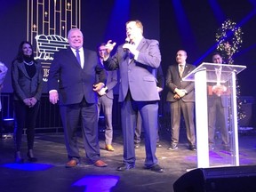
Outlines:
[[[68,47],[68,30],[81,27],[81,0],[28,0],[27,40],[47,82],[54,53]]]

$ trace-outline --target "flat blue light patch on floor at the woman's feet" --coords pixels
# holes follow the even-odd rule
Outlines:
[[[1,167],[28,172],[45,171],[53,167],[52,164],[1,164]]]

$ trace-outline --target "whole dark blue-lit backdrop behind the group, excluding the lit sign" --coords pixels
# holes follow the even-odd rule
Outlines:
[[[27,38],[27,1],[0,2],[0,60],[10,68],[18,44]],[[180,4],[177,5],[177,2]],[[215,5],[211,5],[214,2]],[[185,14],[178,16],[177,12]],[[212,52],[209,50],[216,43],[217,29],[224,20],[233,20],[241,24],[244,32],[244,42],[234,58],[236,64],[247,66],[238,75],[241,95],[255,97],[256,91],[252,84],[256,72],[255,13],[254,0],[83,0],[81,29],[84,32],[84,44],[93,50],[97,44],[108,39],[117,44],[124,43],[125,21],[139,19],[144,24],[144,35],[160,41],[162,65],[166,71],[175,61],[175,54],[179,49],[188,52],[189,63],[198,65],[203,61],[211,61]],[[3,92],[12,92],[10,79],[9,71]]]

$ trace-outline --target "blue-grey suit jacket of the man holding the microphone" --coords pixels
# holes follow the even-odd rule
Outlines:
[[[140,51],[138,59],[129,62],[129,52],[124,51],[123,45],[120,45],[116,54],[104,61],[106,68],[120,69],[119,101],[124,101],[128,90],[133,100],[160,100],[155,76],[161,62],[158,42],[143,38],[137,50]]]

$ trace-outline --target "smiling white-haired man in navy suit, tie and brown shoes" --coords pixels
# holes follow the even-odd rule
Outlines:
[[[95,166],[105,167],[107,164],[100,160],[97,92],[105,85],[106,72],[97,53],[84,49],[80,29],[69,30],[68,43],[67,50],[55,54],[48,77],[50,102],[56,104],[59,100],[60,104],[69,160],[66,167],[75,167],[80,161],[76,137],[80,122],[86,157]],[[99,83],[95,80],[96,75]]]

